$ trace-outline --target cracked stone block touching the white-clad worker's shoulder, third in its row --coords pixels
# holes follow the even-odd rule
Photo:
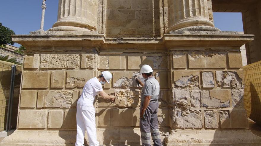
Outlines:
[[[66,88],[82,88],[94,77],[94,71],[67,71]]]

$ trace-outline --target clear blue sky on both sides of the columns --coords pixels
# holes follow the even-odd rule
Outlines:
[[[58,0],[47,0],[44,30],[52,28],[57,21]],[[40,29],[42,0],[0,0],[0,22],[16,35],[26,35]],[[243,32],[241,13],[214,13],[215,27],[222,31]],[[16,47],[20,45],[15,43]]]

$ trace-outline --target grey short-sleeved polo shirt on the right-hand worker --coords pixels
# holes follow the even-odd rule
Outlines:
[[[159,99],[160,84],[154,77],[146,78],[144,87],[141,90],[141,101],[144,101],[145,96],[151,96],[151,101]]]

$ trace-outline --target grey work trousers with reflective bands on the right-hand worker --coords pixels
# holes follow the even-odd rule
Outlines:
[[[141,101],[141,109],[143,101]],[[142,146],[150,146],[150,135],[154,146],[162,146],[160,140],[160,130],[158,126],[157,112],[159,101],[150,101],[145,111],[144,118],[140,118],[141,142]]]

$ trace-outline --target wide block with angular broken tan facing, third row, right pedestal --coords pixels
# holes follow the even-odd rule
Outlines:
[[[203,107],[229,107],[230,90],[201,90]]]

